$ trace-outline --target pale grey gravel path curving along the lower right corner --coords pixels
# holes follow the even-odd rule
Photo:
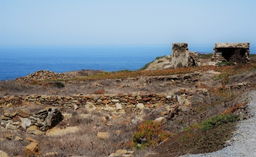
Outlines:
[[[213,153],[183,155],[183,157],[256,156],[256,91],[248,93],[248,101],[250,118],[239,121],[238,130],[233,134],[232,139],[226,142],[229,146]]]

